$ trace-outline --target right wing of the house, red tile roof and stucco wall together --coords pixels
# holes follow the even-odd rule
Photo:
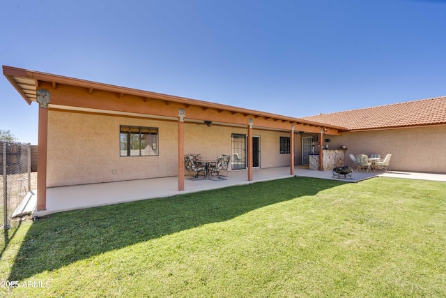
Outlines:
[[[446,96],[304,117],[344,126],[330,137],[330,147],[346,146],[347,154],[392,154],[392,170],[446,172]],[[351,160],[346,156],[346,165]]]

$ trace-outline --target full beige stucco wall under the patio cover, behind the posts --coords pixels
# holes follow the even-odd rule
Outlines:
[[[159,128],[159,156],[119,156],[119,126]],[[247,128],[185,124],[185,154],[203,159],[231,155],[231,134]],[[279,153],[279,136],[289,133],[253,131],[260,135],[261,167],[289,165],[289,154]],[[178,174],[176,121],[61,112],[48,114],[47,186],[169,177]],[[300,158],[296,157],[296,159]]]

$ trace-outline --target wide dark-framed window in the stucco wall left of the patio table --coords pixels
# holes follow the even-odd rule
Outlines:
[[[157,156],[158,128],[119,127],[120,156]]]

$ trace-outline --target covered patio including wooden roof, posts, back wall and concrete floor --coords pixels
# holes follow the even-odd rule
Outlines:
[[[10,66],[3,74],[26,103],[39,105],[37,191],[25,200],[35,216],[295,176],[338,179],[324,167],[323,149],[343,155],[348,147],[348,128],[324,121]],[[321,157],[314,170],[298,166],[309,152]],[[240,154],[245,169],[232,167],[226,181],[191,181],[184,156],[194,153],[203,160]]]

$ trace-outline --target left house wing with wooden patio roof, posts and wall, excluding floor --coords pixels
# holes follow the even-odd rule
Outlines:
[[[46,189],[178,177],[185,154],[232,158],[229,170],[299,164],[298,132],[341,135],[343,127],[3,66],[26,103],[39,105],[37,209]],[[323,137],[320,137],[323,139]],[[139,140],[136,146],[132,143]]]

